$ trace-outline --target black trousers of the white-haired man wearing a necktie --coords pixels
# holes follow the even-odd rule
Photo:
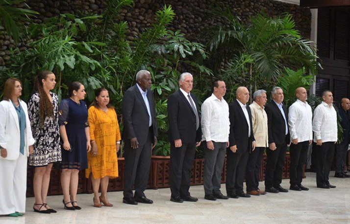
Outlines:
[[[195,158],[196,142],[182,143],[175,148],[174,141],[170,142],[170,190],[172,197],[190,196],[191,169]]]

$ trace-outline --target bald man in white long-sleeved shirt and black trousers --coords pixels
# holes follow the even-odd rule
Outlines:
[[[294,191],[308,191],[301,185],[307,150],[312,143],[312,110],[306,102],[307,91],[299,87],[296,91],[297,101],[289,107],[288,124],[291,137],[289,148],[291,163],[289,167],[290,188]]]

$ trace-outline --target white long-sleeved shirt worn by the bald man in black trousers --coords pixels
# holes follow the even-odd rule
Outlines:
[[[307,102],[297,99],[288,111],[288,124],[291,141],[298,138],[298,142],[312,140],[312,110]]]

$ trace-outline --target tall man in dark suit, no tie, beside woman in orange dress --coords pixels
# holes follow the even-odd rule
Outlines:
[[[146,198],[150,174],[152,148],[157,143],[157,121],[153,94],[150,91],[152,78],[147,70],[136,74],[136,85],[126,90],[123,97],[125,142],[124,198],[127,204],[153,203]],[[135,184],[135,195],[132,187]]]

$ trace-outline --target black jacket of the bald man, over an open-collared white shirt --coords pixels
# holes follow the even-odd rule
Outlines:
[[[246,105],[246,108],[250,122],[250,137],[248,137],[249,126],[241,105],[237,100],[234,100],[228,107],[230,113],[230,134],[228,136],[229,146],[237,145],[236,153],[244,153],[247,150],[251,152],[252,142],[255,141],[250,107]]]

